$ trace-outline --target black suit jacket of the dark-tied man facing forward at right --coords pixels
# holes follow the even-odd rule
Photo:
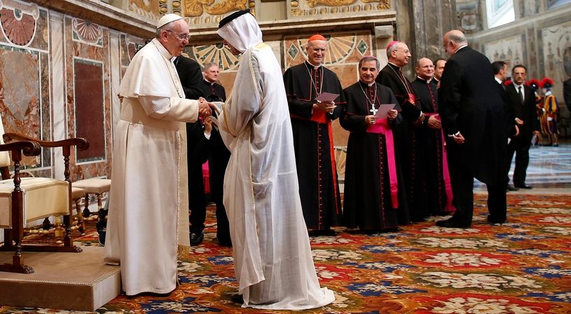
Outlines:
[[[509,97],[509,104],[511,110],[514,111],[514,116],[523,120],[523,125],[518,125],[519,136],[525,142],[531,140],[533,130],[535,129],[536,107],[535,107],[535,92],[529,86],[523,86],[523,104],[521,104],[520,97],[514,84],[506,86],[506,93]]]

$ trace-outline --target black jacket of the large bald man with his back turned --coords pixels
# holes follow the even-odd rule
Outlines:
[[[490,60],[472,48],[448,59],[439,89],[446,135],[460,132],[464,144],[446,137],[448,156],[486,184],[504,184],[507,159],[504,104]]]

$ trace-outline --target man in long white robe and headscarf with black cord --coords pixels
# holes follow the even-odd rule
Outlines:
[[[320,288],[298,193],[282,70],[249,10],[221,20],[218,34],[242,53],[219,118],[232,156],[224,199],[242,306],[303,310],[333,302]]]

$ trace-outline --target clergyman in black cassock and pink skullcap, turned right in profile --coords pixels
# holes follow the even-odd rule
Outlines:
[[[397,163],[406,186],[406,191],[399,191],[399,222],[408,224],[411,220],[421,221],[426,212],[425,194],[418,188],[420,182],[416,179],[416,172],[420,169],[415,168],[413,131],[415,125],[424,121],[425,116],[416,105],[411,83],[401,71],[401,67],[408,64],[411,57],[408,46],[400,41],[392,41],[387,46],[387,57],[389,63],[380,70],[376,81],[392,90],[404,118],[403,123],[395,125],[394,142],[397,147]]]

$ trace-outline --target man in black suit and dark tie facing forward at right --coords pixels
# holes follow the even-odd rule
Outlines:
[[[511,158],[516,153],[516,167],[514,169],[514,186],[519,189],[531,189],[525,184],[525,174],[530,163],[530,146],[533,130],[535,130],[535,93],[532,88],[525,85],[528,70],[521,64],[511,69],[513,83],[506,87],[511,110],[514,111],[516,125],[520,129],[518,137],[514,137],[508,146],[507,172],[511,165]],[[506,172],[506,173],[507,173]],[[509,177],[507,178],[509,182]]]

